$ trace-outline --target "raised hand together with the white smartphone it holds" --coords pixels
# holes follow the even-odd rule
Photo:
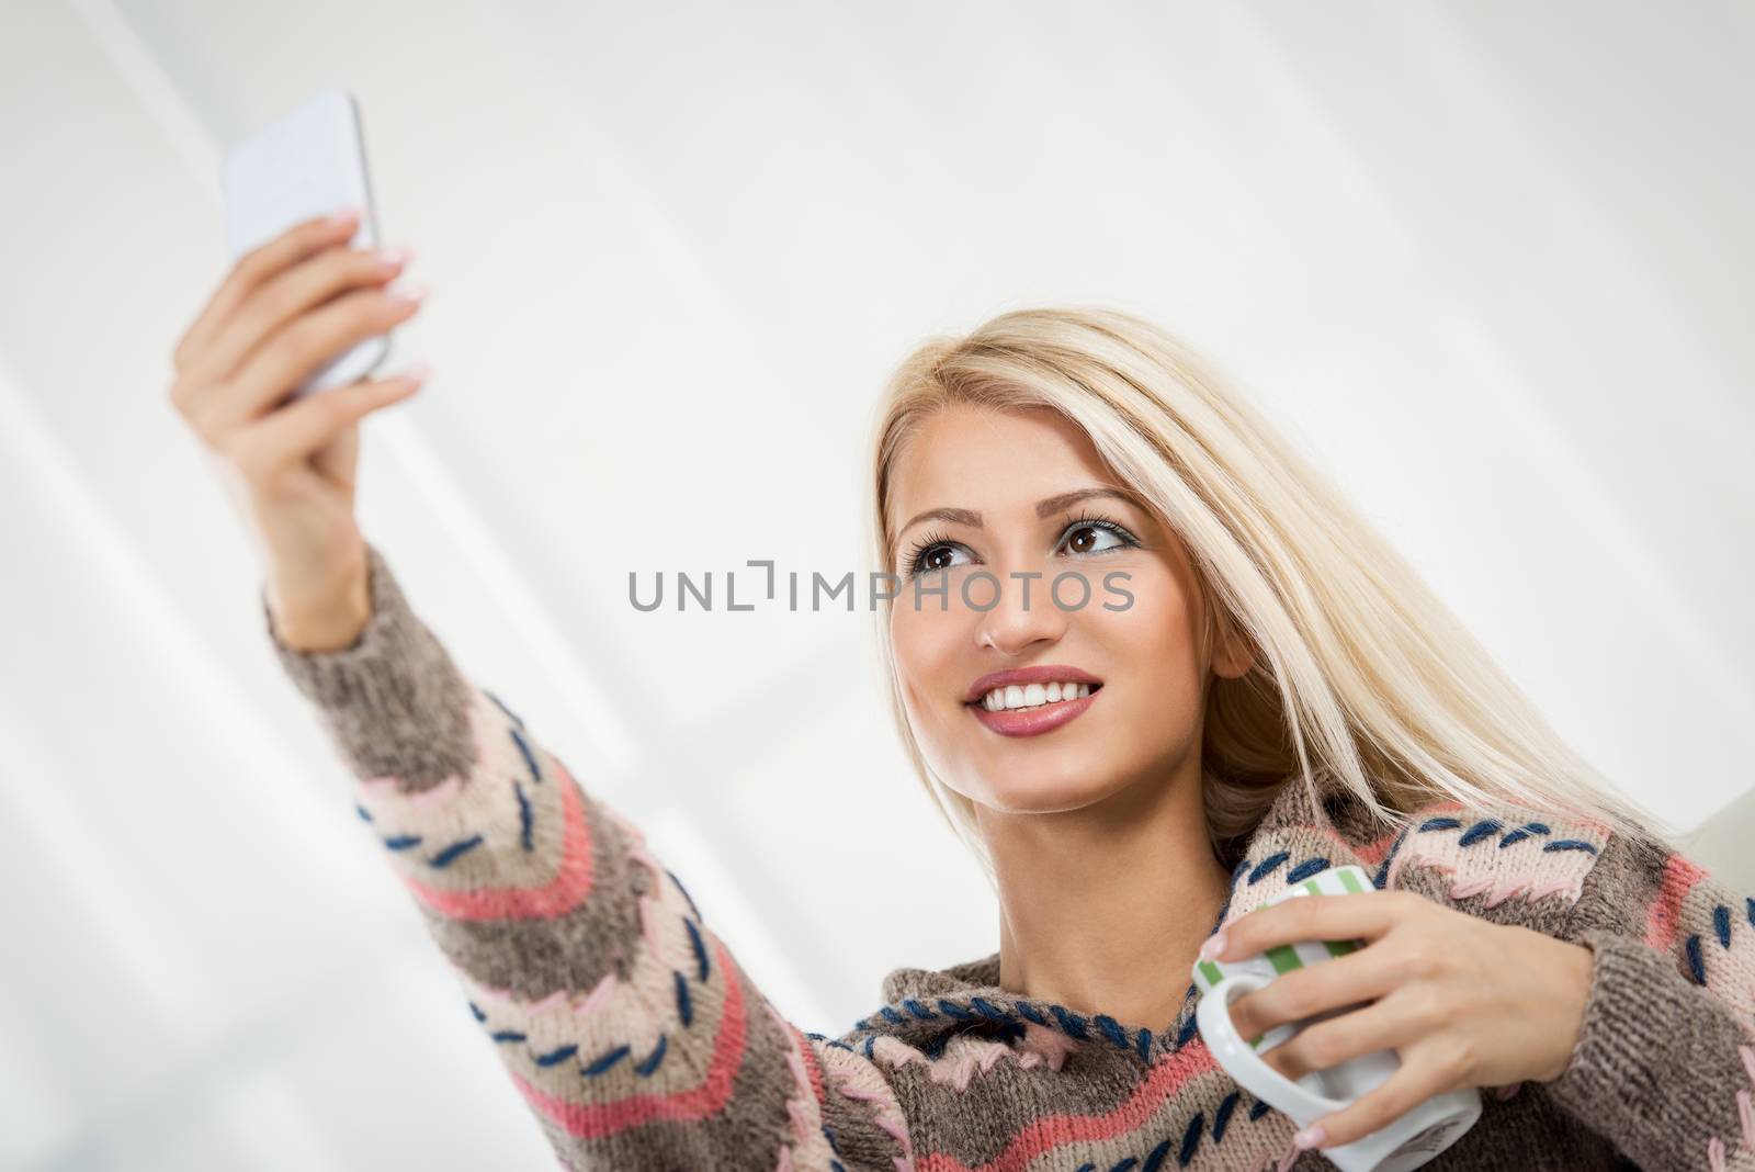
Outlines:
[[[172,351],[170,402],[253,537],[276,630],[291,647],[344,647],[370,616],[360,421],[426,372],[369,375],[421,291],[391,286],[405,253],[355,247],[376,246],[377,225],[344,93],[253,135],[225,182],[233,261]]]

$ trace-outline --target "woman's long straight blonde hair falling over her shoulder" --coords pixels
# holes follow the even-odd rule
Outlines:
[[[951,404],[1046,407],[1085,430],[1116,481],[1188,551],[1206,600],[1200,660],[1228,633],[1255,665],[1214,677],[1202,790],[1230,863],[1283,784],[1313,802],[1344,786],[1386,826],[1439,798],[1548,811],[1651,842],[1650,814],[1615,793],[1413,568],[1183,340],[1106,309],[1023,309],[921,344],[892,375],[872,444],[870,540],[895,572],[892,468]],[[925,761],[878,609],[890,707],[928,797],[993,877],[974,804]]]

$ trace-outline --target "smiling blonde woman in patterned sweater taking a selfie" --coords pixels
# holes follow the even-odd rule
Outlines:
[[[355,526],[358,419],[418,381],[288,388],[418,305],[351,235],[242,258],[172,400],[256,535],[281,663],[567,1167],[1327,1167],[1457,1086],[1486,1107],[1434,1168],[1755,1167],[1755,902],[1602,788],[1218,377],[1111,312],[1006,314],[888,389],[881,646],[1000,947],[802,1033]],[[1381,891],[1262,907],[1344,863]],[[1344,937],[1232,1007],[1253,1037],[1372,998],[1265,1054],[1402,1056],[1297,1132],[1214,1063],[1188,974]]]

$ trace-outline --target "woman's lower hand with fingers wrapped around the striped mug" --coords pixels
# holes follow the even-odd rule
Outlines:
[[[1262,1054],[1288,1079],[1378,1049],[1399,1053],[1400,1067],[1381,1086],[1300,1132],[1304,1147],[1350,1144],[1450,1090],[1560,1077],[1583,1026],[1594,961],[1581,944],[1495,925],[1415,891],[1302,895],[1227,925],[1207,949],[1214,940],[1216,960],[1297,940],[1365,942],[1230,1005],[1243,1037],[1358,1005]]]

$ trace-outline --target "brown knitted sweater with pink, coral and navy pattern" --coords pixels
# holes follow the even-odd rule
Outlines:
[[[456,668],[369,558],[353,646],[284,646],[263,591],[269,637],[563,1167],[1332,1167],[1216,1065],[1192,984],[1174,1021],[1127,1023],[1000,988],[990,953],[890,972],[841,1037],[800,1030],[641,832]],[[1281,788],[1214,930],[1360,863],[1378,888],[1594,954],[1564,1074],[1483,1090],[1479,1123],[1427,1167],[1755,1168],[1755,900],[1595,823],[1439,804],[1379,833],[1350,795],[1318,798]]]

